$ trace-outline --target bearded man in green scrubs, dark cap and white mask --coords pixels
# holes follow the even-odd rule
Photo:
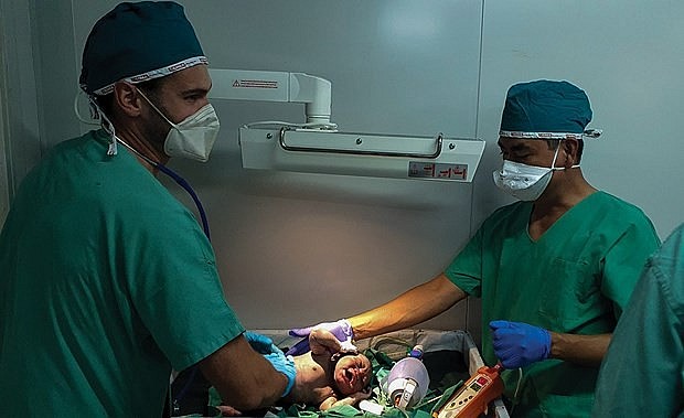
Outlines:
[[[205,160],[218,128],[182,7],[117,6],[81,83],[107,129],[45,156],[0,235],[0,416],[160,417],[172,367],[193,365],[235,408],[272,405],[293,362],[245,337],[205,232],[156,178]]]

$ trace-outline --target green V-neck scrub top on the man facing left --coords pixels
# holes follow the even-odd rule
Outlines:
[[[496,363],[489,322],[526,322],[559,333],[602,334],[616,326],[646,258],[660,240],[638,207],[596,192],[566,212],[536,242],[527,232],[532,202],[484,221],[446,276],[482,299],[482,354]],[[597,367],[546,360],[504,371],[515,416],[587,417]],[[517,396],[514,396],[517,387]]]

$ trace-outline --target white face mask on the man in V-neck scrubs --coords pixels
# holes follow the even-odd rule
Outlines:
[[[503,160],[501,170],[493,172],[494,184],[521,201],[536,201],[548,186],[553,172],[565,170],[565,167],[554,167],[559,149],[560,146],[558,144],[551,168]],[[578,167],[579,164],[575,164],[571,168]]]

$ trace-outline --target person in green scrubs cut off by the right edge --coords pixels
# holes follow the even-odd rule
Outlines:
[[[646,261],[596,386],[594,417],[684,417],[684,224]]]

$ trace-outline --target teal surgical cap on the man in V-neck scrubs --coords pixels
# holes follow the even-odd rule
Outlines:
[[[586,93],[568,82],[541,79],[511,86],[501,116],[502,137],[563,139],[591,121]]]

